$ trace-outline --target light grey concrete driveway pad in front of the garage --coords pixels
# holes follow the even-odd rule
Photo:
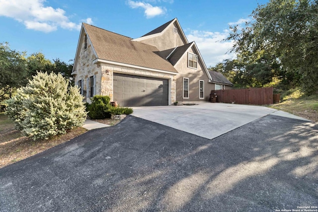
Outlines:
[[[203,138],[214,139],[269,114],[308,121],[262,106],[209,102],[191,106],[134,107],[132,115]]]

